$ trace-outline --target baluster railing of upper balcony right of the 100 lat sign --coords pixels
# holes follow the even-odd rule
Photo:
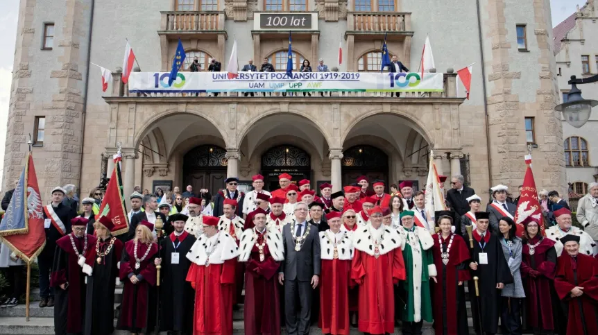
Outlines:
[[[411,31],[409,12],[349,12],[347,30],[360,32]]]

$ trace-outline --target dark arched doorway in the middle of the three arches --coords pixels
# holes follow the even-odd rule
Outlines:
[[[289,173],[293,181],[311,178],[311,157],[301,148],[291,145],[274,146],[262,155],[262,175],[269,191],[280,188],[278,175]]]

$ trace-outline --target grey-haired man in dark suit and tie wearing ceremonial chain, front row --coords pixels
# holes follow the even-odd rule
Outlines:
[[[309,334],[311,299],[320,277],[318,227],[307,223],[307,205],[296,203],[295,221],[282,227],[284,261],[278,282],[284,286],[284,313],[289,335]],[[300,303],[299,320],[296,305]]]

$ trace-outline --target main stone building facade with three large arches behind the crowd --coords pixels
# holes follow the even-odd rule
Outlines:
[[[121,83],[125,37],[140,71],[169,71],[179,37],[204,67],[215,58],[225,68],[237,40],[241,66],[268,58],[280,70],[289,31],[256,21],[272,11],[314,13],[311,27],[293,31],[296,58],[339,66],[340,40],[341,71],[379,71],[385,35],[388,51],[417,71],[429,35],[445,91],[137,96]],[[50,24],[53,46],[44,48]],[[226,175],[246,181],[259,172],[275,184],[280,171],[314,188],[331,180],[339,189],[365,172],[423,187],[430,148],[439,172],[465,174],[478,194],[498,183],[516,192],[530,118],[536,183],[565,191],[551,26],[549,0],[21,0],[3,186],[22,169],[28,133],[43,128],[33,155],[45,200],[56,184],[87,194],[99,183],[102,155],[119,144],[126,194],[168,182],[215,190]],[[114,69],[105,93],[92,63]],[[466,100],[454,71],[471,63]]]

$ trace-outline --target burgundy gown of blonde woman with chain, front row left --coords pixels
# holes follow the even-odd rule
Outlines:
[[[137,257],[141,259],[147,248],[147,257],[135,268],[135,240],[125,243],[125,250],[121,257],[120,280],[124,283],[123,302],[119,315],[118,329],[131,332],[147,333],[155,326],[155,281],[156,270],[154,259],[157,255],[157,244],[144,243],[137,245]],[[143,280],[133,284],[129,274],[142,275]]]

